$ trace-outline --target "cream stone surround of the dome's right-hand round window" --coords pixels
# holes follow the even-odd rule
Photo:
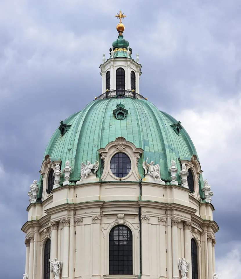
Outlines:
[[[200,194],[199,194],[199,175],[202,174],[202,169],[200,166],[199,161],[197,160],[196,155],[192,155],[192,157],[189,158],[180,158],[180,163],[185,164],[187,171],[190,169],[193,174],[193,180],[194,180],[194,191],[193,193],[189,193],[191,196],[196,198],[197,200],[200,200]]]

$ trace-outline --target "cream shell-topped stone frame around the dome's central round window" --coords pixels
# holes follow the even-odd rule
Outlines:
[[[136,148],[132,142],[128,142],[124,137],[117,137],[115,141],[109,142],[105,148],[100,148],[98,152],[104,160],[104,169],[101,176],[102,181],[139,181],[141,176],[138,172],[138,159],[143,149]],[[111,158],[116,153],[126,154],[131,161],[131,169],[125,177],[116,177],[110,169]]]

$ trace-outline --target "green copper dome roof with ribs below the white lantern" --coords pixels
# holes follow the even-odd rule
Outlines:
[[[127,111],[123,119],[115,117],[116,108],[120,105]],[[61,125],[66,125],[64,131]],[[87,161],[100,162],[97,172],[100,178],[102,167],[97,150],[105,148],[117,137],[125,137],[137,148],[144,150],[138,164],[141,178],[144,177],[142,162],[147,157],[160,165],[161,178],[168,183],[171,181],[168,170],[172,160],[177,162],[179,173],[179,159],[197,155],[193,142],[180,122],[166,112],[159,111],[146,100],[126,97],[92,101],[83,110],[64,120],[61,125],[51,137],[44,155],[48,154],[51,158],[62,160],[61,169],[64,168],[64,162],[69,160],[72,167],[70,179],[72,182],[80,180],[81,162]],[[180,177],[178,180],[181,184]],[[203,187],[202,175],[199,189],[201,187]],[[199,192],[203,197],[202,191]]]

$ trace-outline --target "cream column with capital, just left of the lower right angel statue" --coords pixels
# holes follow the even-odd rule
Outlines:
[[[172,218],[172,278],[179,278],[178,270],[178,235],[177,224],[181,222],[180,219]]]

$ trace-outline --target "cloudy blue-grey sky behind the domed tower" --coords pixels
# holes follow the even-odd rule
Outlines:
[[[216,272],[241,271],[241,4],[238,0],[0,0],[1,276],[24,273],[30,184],[60,120],[99,96],[114,15],[142,65],[140,94],[175,117],[214,192]],[[12,263],[14,262],[14,269]]]

